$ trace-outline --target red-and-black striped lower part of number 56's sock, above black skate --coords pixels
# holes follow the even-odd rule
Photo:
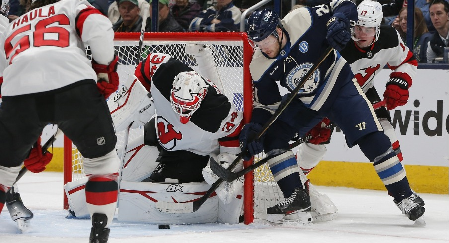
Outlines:
[[[118,183],[116,174],[90,175],[86,183],[86,203],[89,214],[105,214],[106,228],[111,224],[117,207]]]

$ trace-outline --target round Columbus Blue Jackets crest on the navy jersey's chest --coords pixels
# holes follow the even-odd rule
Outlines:
[[[299,82],[307,75],[307,72],[312,69],[312,63],[303,63],[295,67],[287,75],[286,83],[290,90],[294,90]],[[299,89],[298,94],[310,94],[315,91],[319,84],[320,72],[316,69],[315,72],[310,76],[310,78],[304,83],[304,85]]]

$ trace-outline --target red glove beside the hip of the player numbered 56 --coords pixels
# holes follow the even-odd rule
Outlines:
[[[95,60],[92,60],[92,68],[98,77],[98,90],[106,99],[119,87],[119,75],[117,74],[118,61],[118,56],[115,56],[109,65],[101,65],[96,63]]]

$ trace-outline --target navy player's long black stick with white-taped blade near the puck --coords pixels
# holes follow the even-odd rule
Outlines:
[[[296,94],[298,93],[299,89],[305,84],[305,82],[312,76],[313,73],[315,73],[316,69],[319,65],[329,56],[329,54],[334,49],[332,47],[328,47],[326,51],[323,53],[323,55],[318,59],[318,62],[313,65],[313,67],[307,72],[307,74],[304,76],[304,78],[299,82],[298,86],[290,93],[289,98],[282,103],[279,108],[276,110],[276,112],[273,114],[273,116],[266,122],[266,124],[262,127],[262,130],[257,134],[256,140],[262,137],[262,135],[267,131],[268,127],[273,124],[273,122],[281,115],[281,113],[285,110],[287,105],[290,104],[290,102],[296,97]],[[252,140],[252,139],[251,139]],[[234,169],[234,167],[238,164],[238,162],[242,159],[244,152],[240,152],[237,155],[237,158],[232,162],[232,164],[229,165],[229,168],[227,170],[231,171]],[[197,211],[201,205],[204,204],[204,202],[214,193],[215,189],[217,189],[224,180],[223,178],[219,178],[216,182],[214,182],[211,185],[211,188],[198,200],[196,201],[189,201],[189,202],[163,202],[163,201],[157,201],[156,202],[156,208],[160,212],[165,213],[193,213]]]

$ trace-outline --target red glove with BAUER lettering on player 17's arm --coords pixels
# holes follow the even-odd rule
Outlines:
[[[391,73],[390,79],[386,83],[386,90],[383,93],[383,99],[386,100],[386,108],[392,110],[407,104],[410,86],[412,86],[412,79],[407,73]]]

